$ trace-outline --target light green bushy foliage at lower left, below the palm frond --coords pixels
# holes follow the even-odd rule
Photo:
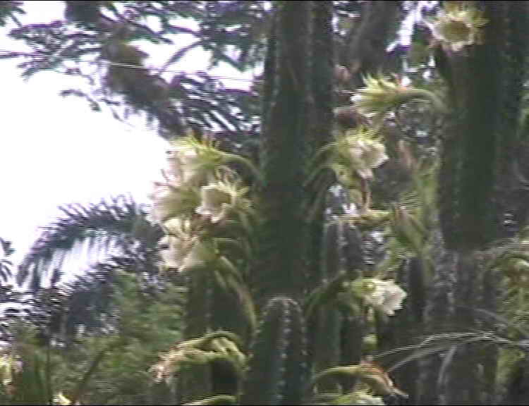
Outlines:
[[[78,331],[67,350],[58,340],[43,343],[30,324],[19,324],[11,353],[6,353],[15,360],[12,378],[3,383],[6,404],[49,404],[57,396],[71,404],[151,404],[149,367],[159,351],[181,337],[182,291],[167,285],[152,297],[142,293],[138,282],[120,273],[116,321],[107,324],[104,334]],[[170,390],[166,397],[170,402]]]

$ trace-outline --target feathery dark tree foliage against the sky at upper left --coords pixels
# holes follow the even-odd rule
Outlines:
[[[229,63],[244,70],[259,63],[269,20],[265,1],[64,3],[63,18],[11,30],[9,35],[31,51],[5,51],[1,57],[20,60],[25,77],[54,70],[81,78],[88,90],[73,88],[61,94],[83,97],[96,111],[108,106],[116,117],[121,116],[119,106],[125,116],[145,112],[168,138],[188,129],[216,128],[229,137],[250,130],[257,116],[255,92],[226,88],[206,72],[176,69],[195,48],[208,52],[211,66]],[[182,43],[186,45],[178,46]],[[163,66],[152,67],[142,51],[150,44],[177,47]]]

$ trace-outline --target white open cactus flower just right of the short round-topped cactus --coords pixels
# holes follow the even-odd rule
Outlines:
[[[376,278],[365,280],[363,298],[368,305],[394,316],[395,310],[402,309],[402,302],[408,294],[394,281],[382,281]]]

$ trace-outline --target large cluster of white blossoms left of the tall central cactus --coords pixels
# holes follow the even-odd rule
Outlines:
[[[167,152],[163,179],[154,183],[152,216],[162,225],[161,255],[167,268],[203,266],[216,258],[202,230],[249,207],[247,189],[224,164],[227,154],[191,137],[174,142]]]

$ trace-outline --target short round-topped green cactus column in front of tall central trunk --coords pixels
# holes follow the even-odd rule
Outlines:
[[[307,378],[301,309],[288,297],[274,297],[252,345],[241,404],[300,405]]]

